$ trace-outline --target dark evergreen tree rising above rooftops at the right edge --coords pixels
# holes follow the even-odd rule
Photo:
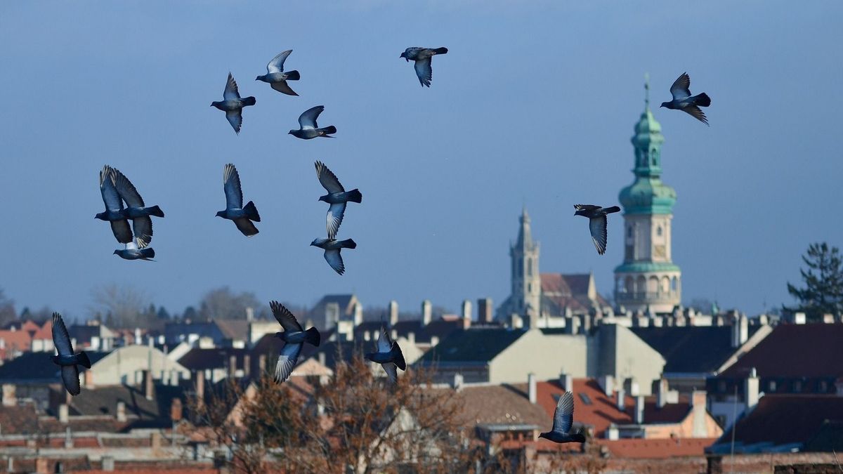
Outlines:
[[[843,259],[840,249],[828,244],[811,244],[802,256],[807,268],[802,268],[805,288],[787,283],[787,292],[797,299],[790,311],[803,311],[808,320],[821,320],[823,315],[839,316],[843,312]]]

